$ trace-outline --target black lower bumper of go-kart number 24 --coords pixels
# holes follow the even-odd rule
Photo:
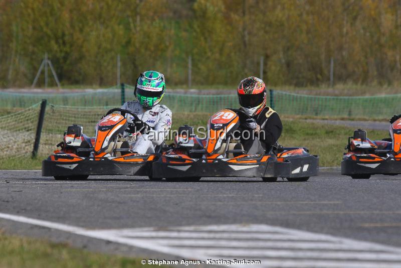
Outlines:
[[[44,160],[42,176],[79,176],[79,175],[134,175],[149,176],[152,162],[116,162],[104,158],[95,161],[86,158],[77,162],[58,162]]]

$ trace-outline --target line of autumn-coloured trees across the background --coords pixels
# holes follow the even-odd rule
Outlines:
[[[401,82],[401,0],[0,0],[0,87],[29,86],[48,53],[62,84],[271,86]],[[42,80],[40,80],[43,83]]]

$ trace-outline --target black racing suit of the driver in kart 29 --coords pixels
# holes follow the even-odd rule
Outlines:
[[[250,139],[247,139],[248,135],[244,135],[244,130],[253,133],[253,129],[244,126],[245,120],[249,117],[243,116],[241,113],[238,114],[240,116],[239,130],[242,134],[240,137],[241,144],[244,146],[244,150],[247,154],[264,154],[280,138],[283,124],[281,123],[280,116],[272,108],[266,106],[259,114],[252,116],[261,130],[259,133],[251,135]]]

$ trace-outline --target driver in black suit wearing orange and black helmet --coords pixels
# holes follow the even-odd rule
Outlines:
[[[262,79],[251,76],[240,82],[237,89],[240,110],[241,144],[249,155],[265,154],[281,135],[280,116],[266,106],[266,88]],[[250,135],[245,135],[249,131]],[[249,137],[249,138],[248,138]]]

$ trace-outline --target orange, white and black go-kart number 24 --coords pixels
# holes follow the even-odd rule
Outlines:
[[[120,113],[116,113],[120,112]],[[124,131],[128,127],[125,114],[136,114],[129,110],[114,108],[96,124],[95,137],[83,133],[83,127],[71,125],[54,151],[42,162],[42,176],[53,176],[56,180],[85,180],[89,175],[134,175],[149,176],[151,166],[160,153],[142,155],[132,152]]]

